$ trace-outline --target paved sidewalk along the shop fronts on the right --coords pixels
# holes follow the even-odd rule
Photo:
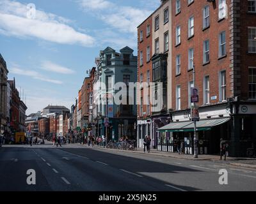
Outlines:
[[[208,160],[208,161],[220,161],[219,155],[209,155],[209,154],[198,154],[198,158],[194,158],[193,155],[188,154],[178,154],[177,152],[161,152],[156,149],[151,149],[150,153],[147,151],[144,152],[143,148],[137,148],[135,151],[131,150],[118,150],[118,149],[106,149],[99,146],[93,146],[88,147],[88,145],[80,145],[80,144],[72,144],[72,145],[79,145],[86,148],[92,148],[102,151],[112,151],[112,152],[131,152],[131,153],[137,153],[137,154],[148,154],[148,155],[154,155],[154,156],[163,156],[163,157],[172,157],[177,159],[190,159],[195,161],[202,161],[202,160]],[[227,164],[233,165],[233,166],[241,166],[245,168],[256,168],[256,158],[244,158],[244,157],[227,157]]]

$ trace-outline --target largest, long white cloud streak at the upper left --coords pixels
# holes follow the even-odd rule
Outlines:
[[[27,12],[26,4],[1,0],[0,33],[68,45],[78,44],[84,47],[92,46],[95,41],[92,36],[79,33],[67,25],[71,21],[66,18],[36,10],[35,18],[31,19],[26,17]]]

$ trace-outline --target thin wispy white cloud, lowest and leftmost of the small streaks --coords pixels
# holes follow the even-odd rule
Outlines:
[[[41,80],[43,82],[51,82],[53,84],[63,84],[63,82],[61,82],[59,80],[52,80],[51,78],[47,78],[36,71],[24,70],[24,69],[20,69],[20,68],[11,68],[10,73],[13,73],[16,75],[24,75],[24,76],[32,77],[36,80]]]

